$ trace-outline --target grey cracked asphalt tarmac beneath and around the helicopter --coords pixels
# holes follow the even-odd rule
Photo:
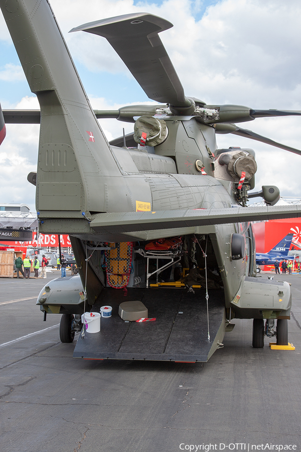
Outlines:
[[[58,276],[0,279],[2,452],[301,451],[301,274],[274,278],[292,284],[295,351],[253,349],[238,319],[205,364],[73,359],[35,304]]]

